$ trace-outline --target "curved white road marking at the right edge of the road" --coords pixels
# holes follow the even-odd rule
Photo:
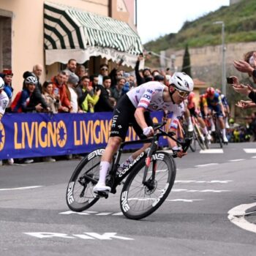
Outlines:
[[[246,210],[255,206],[256,206],[256,203],[249,203],[249,204],[236,206],[227,212],[228,214],[227,218],[230,220],[230,222],[237,225],[238,227],[241,227],[244,230],[256,233],[256,225],[253,223],[247,222],[246,219],[244,219],[244,215],[246,215]]]

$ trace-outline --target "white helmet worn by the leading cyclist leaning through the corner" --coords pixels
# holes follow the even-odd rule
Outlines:
[[[171,79],[171,84],[179,91],[193,91],[194,82],[184,72],[175,72]]]

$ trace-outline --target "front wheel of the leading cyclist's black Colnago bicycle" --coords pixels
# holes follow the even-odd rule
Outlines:
[[[157,170],[154,187],[151,190],[142,184],[146,157],[140,159],[133,167],[132,172],[124,183],[120,196],[120,205],[121,211],[128,219],[143,219],[152,214],[162,205],[173,187],[176,178],[176,164],[173,157],[162,151],[157,151],[153,154],[151,165],[148,168],[147,181],[152,173],[152,159],[157,161]],[[155,195],[157,197],[154,197]],[[141,210],[139,209],[140,206],[142,206]]]

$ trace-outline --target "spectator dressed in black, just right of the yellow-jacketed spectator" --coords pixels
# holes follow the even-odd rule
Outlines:
[[[103,85],[99,85],[101,94],[99,95],[99,101],[94,107],[95,112],[110,112],[113,111],[113,105],[110,103],[110,94],[108,90],[110,89],[111,79],[109,76],[103,78]]]

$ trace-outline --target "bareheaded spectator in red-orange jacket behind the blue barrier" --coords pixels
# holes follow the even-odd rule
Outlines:
[[[53,91],[58,88],[59,89],[59,97],[61,101],[61,105],[59,107],[59,112],[69,112],[72,109],[69,94],[67,92],[67,86],[65,85],[65,81],[67,80],[67,74],[64,71],[60,71],[58,75],[52,78],[53,82]]]

